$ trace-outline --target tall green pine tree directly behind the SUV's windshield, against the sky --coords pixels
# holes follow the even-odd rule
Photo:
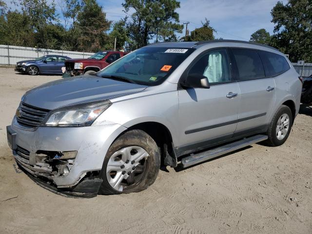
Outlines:
[[[125,0],[122,5],[126,12],[135,11],[127,23],[130,50],[147,45],[158,34],[169,38],[182,32],[183,25],[176,13],[180,2],[176,0]]]

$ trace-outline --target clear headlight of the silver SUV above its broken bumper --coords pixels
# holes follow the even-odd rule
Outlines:
[[[112,103],[92,102],[60,108],[46,118],[45,126],[83,127],[90,126]]]

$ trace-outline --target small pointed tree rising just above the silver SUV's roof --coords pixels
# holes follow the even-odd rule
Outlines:
[[[209,20],[205,19],[205,23],[202,22],[202,27],[195,28],[194,31],[191,32],[190,36],[183,37],[184,41],[202,41],[202,40],[213,40],[215,39],[214,32],[215,29],[211,27],[209,24]]]

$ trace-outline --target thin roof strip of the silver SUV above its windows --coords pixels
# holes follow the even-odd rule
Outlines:
[[[205,40],[205,41],[183,41],[183,42],[158,42],[154,43],[148,46],[159,46],[159,47],[173,47],[173,48],[193,48],[198,45],[204,45],[208,43],[216,43],[216,42],[234,42],[234,43],[244,43],[244,44],[252,44],[252,45],[258,45],[267,47],[273,50],[277,50],[276,48],[273,48],[268,45],[263,45],[255,42],[250,41],[243,41],[243,40]]]

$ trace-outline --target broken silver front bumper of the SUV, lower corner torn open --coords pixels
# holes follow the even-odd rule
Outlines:
[[[106,152],[126,128],[118,124],[90,127],[24,129],[13,119],[7,126],[9,146],[19,167],[51,192],[92,197]]]

